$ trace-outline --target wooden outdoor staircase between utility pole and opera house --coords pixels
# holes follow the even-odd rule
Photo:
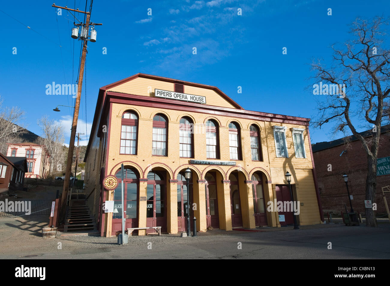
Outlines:
[[[81,191],[81,192],[80,192]],[[64,232],[97,230],[96,220],[90,213],[84,190],[70,191],[69,207]]]

